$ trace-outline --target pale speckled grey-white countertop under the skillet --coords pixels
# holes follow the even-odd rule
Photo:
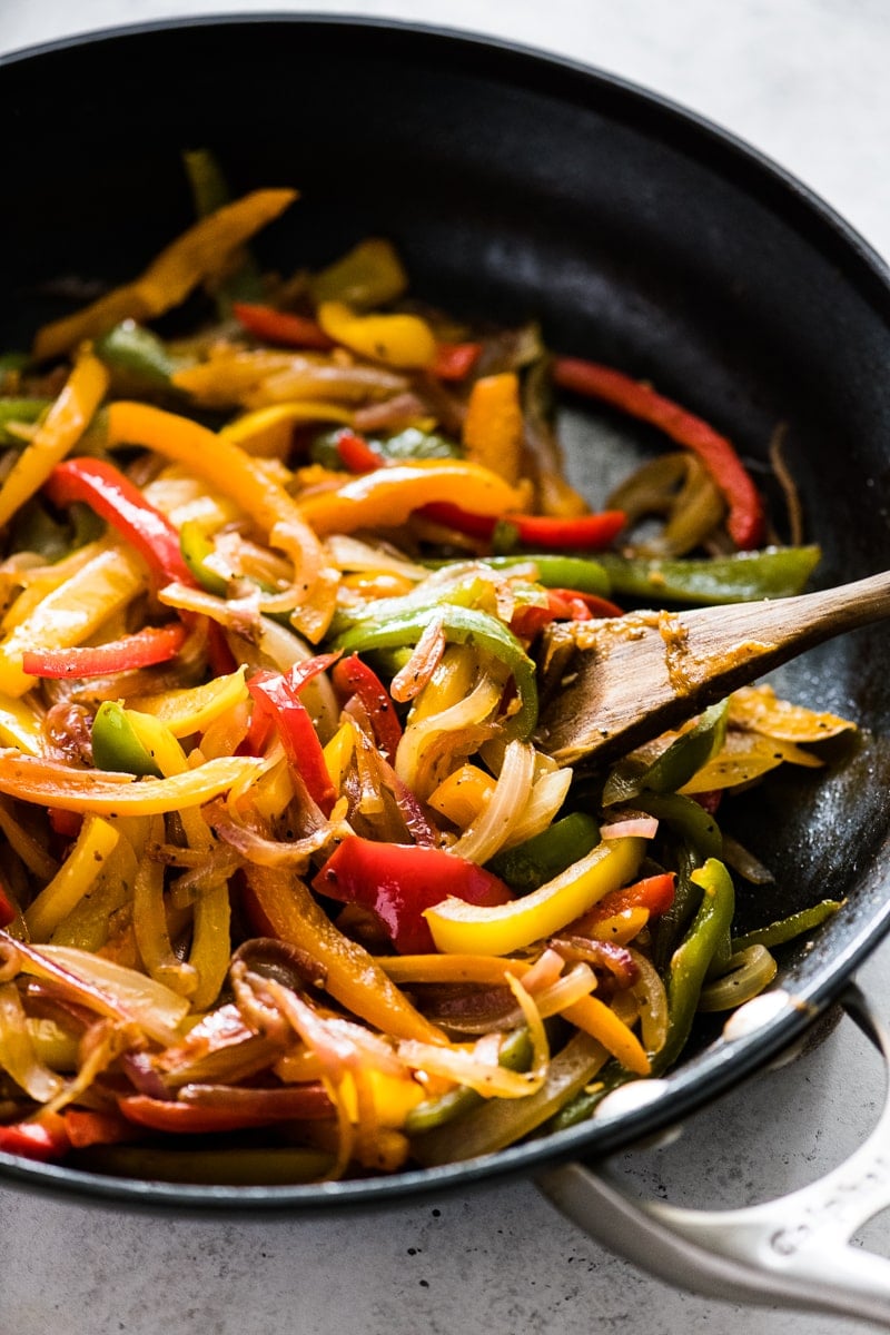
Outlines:
[[[652,87],[794,171],[890,255],[890,7],[885,0],[0,0],[0,51],[116,23],[250,9],[355,12],[508,36]],[[8,204],[4,204],[8,207]],[[890,1016],[890,947],[862,971]],[[881,1099],[845,1023],[737,1091],[670,1151],[622,1161],[640,1189],[729,1207],[850,1152]],[[887,1251],[882,1220],[862,1242]],[[157,1220],[0,1188],[0,1335],[834,1335],[857,1323],[679,1294],[614,1260],[527,1181],[383,1214]]]

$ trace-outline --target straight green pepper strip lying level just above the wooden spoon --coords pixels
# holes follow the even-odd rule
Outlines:
[[[603,551],[598,557],[619,598],[683,603],[790,598],[805,587],[819,547],[765,547],[729,557],[651,559]]]

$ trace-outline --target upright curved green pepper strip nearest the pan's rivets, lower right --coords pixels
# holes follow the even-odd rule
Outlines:
[[[723,862],[710,857],[693,872],[702,888],[702,902],[690,928],[671,956],[667,973],[667,1039],[652,1057],[652,1072],[666,1071],[679,1057],[693,1028],[702,984],[711,963],[729,937],[735,912],[735,888]]]

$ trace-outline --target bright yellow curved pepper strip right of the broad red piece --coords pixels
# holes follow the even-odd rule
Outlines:
[[[552,881],[510,904],[476,908],[447,898],[426,910],[436,949],[448,955],[508,955],[559,932],[636,872],[646,841],[603,841]]]

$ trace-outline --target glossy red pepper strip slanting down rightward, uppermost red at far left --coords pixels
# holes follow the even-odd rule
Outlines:
[[[195,579],[179,547],[179,533],[165,514],[149,505],[137,486],[104,459],[65,459],[45,483],[53,505],[87,505],[129,542],[147,565],[165,581],[193,586]]]

